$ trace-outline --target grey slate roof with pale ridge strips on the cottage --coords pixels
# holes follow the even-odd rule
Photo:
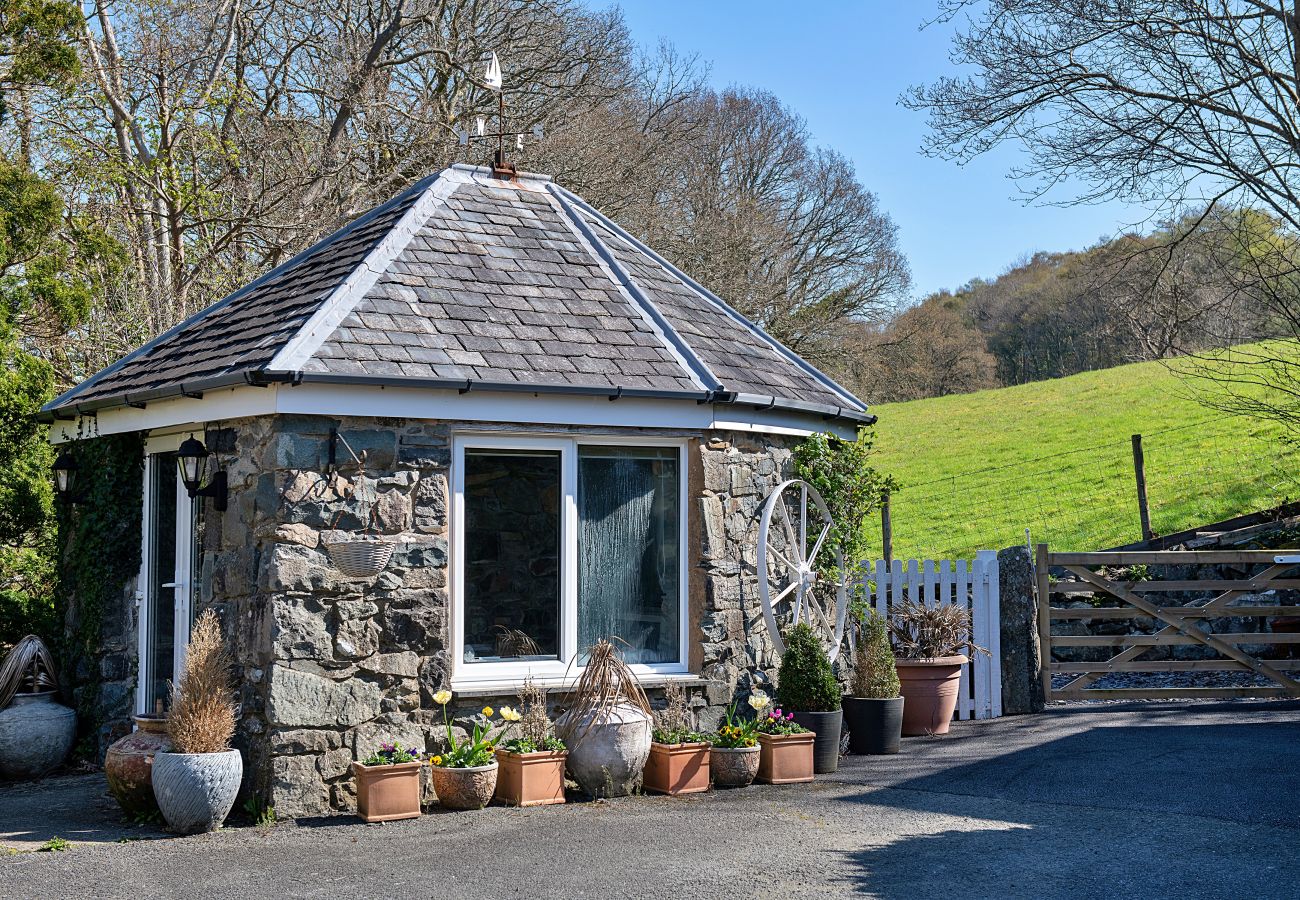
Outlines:
[[[52,401],[248,381],[681,397],[863,420],[866,404],[580,198],[452,166]]]

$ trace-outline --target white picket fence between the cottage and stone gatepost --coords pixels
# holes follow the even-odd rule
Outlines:
[[[905,598],[927,606],[958,603],[971,611],[972,640],[988,650],[975,653],[962,666],[958,719],[994,719],[1002,714],[1001,616],[997,592],[997,553],[980,550],[975,559],[906,562],[878,559],[864,567],[864,594],[871,606],[888,615]]]

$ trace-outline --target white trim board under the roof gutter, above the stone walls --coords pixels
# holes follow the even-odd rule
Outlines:
[[[226,419],[280,414],[425,419],[507,425],[677,428],[686,430],[745,430],[770,434],[805,436],[829,430],[852,438],[852,423],[827,421],[815,414],[785,410],[750,410],[731,403],[697,403],[692,399],[646,399],[581,394],[549,394],[380,385],[300,385],[274,384],[266,388],[240,385],[205,391],[202,398],[178,397],[151,402],[146,408],[101,410],[94,419],[82,419],[82,437],[122,434],[160,428],[202,429],[204,424]],[[56,421],[49,427],[53,443],[79,437],[77,421]]]

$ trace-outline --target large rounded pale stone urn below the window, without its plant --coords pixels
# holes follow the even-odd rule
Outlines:
[[[562,715],[555,727],[569,748],[569,774],[589,796],[623,797],[637,788],[650,758],[649,715],[619,705],[595,722]]]

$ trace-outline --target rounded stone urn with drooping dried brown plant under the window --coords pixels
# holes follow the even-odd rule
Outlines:
[[[556,719],[568,745],[568,770],[592,797],[621,797],[641,783],[650,756],[650,701],[636,674],[607,640],[598,641]]]

